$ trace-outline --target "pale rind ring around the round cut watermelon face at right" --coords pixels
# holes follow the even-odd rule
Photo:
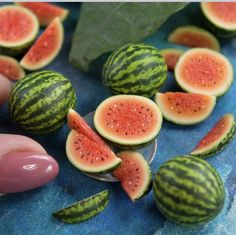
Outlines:
[[[185,57],[191,55],[191,53],[197,54],[200,52],[207,52],[208,55],[211,55],[213,57],[215,56],[215,57],[218,57],[218,58],[221,58],[222,60],[224,60],[224,63],[228,69],[228,71],[227,71],[228,76],[224,76],[224,78],[225,78],[224,87],[220,87],[216,91],[211,91],[211,89],[209,88],[209,90],[206,91],[206,90],[201,90],[201,88],[194,88],[194,86],[187,85],[181,80],[181,75],[179,73],[179,70],[181,70],[182,66],[184,66]],[[175,66],[174,77],[175,77],[175,80],[178,83],[178,85],[186,92],[199,93],[199,94],[205,94],[205,95],[214,95],[216,97],[220,97],[220,96],[224,95],[230,89],[231,84],[234,79],[234,69],[233,69],[233,66],[230,63],[230,61],[224,55],[222,55],[216,51],[207,49],[207,48],[193,48],[193,49],[190,49],[187,52],[185,52],[178,60],[176,66]]]

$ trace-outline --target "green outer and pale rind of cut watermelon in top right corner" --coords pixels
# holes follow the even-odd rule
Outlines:
[[[233,37],[236,35],[236,28],[234,30],[229,30],[224,28],[224,22],[222,22],[221,27],[219,25],[216,25],[211,19],[210,17],[207,15],[208,13],[206,11],[203,10],[202,7],[203,3],[200,3],[200,8],[201,8],[201,13],[202,13],[202,18],[205,22],[205,25],[212,31],[214,32],[218,37],[222,37],[222,38],[229,38],[229,37]]]

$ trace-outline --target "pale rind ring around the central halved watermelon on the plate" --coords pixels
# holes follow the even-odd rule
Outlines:
[[[147,103],[147,107],[150,107],[154,112],[156,112],[157,116],[158,116],[158,126],[156,127],[155,131],[143,138],[137,138],[137,139],[133,139],[130,140],[129,138],[119,138],[117,137],[115,134],[111,134],[108,133],[104,128],[101,127],[100,122],[99,122],[99,117],[100,115],[102,115],[103,113],[100,111],[100,109],[102,109],[104,106],[109,105],[110,101],[113,100],[119,100],[120,98],[126,98],[130,99],[132,101],[132,99],[134,99],[135,102],[137,102],[138,100],[140,101],[145,101],[145,103]],[[106,100],[104,100],[102,103],[100,103],[100,105],[97,107],[97,109],[95,110],[95,114],[94,114],[94,126],[96,128],[96,130],[98,131],[98,133],[104,137],[106,140],[108,140],[111,143],[114,143],[116,146],[124,146],[124,148],[127,148],[128,146],[130,146],[132,148],[132,146],[134,148],[138,147],[138,146],[142,146],[143,144],[146,145],[147,143],[149,143],[150,141],[154,140],[157,135],[159,134],[160,130],[161,130],[161,126],[162,126],[162,112],[159,109],[159,107],[150,99],[145,98],[143,96],[137,96],[137,95],[115,95],[112,97],[107,98]]]

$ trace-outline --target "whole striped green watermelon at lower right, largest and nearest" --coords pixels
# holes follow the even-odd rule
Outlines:
[[[163,164],[153,180],[158,209],[181,225],[205,223],[224,205],[225,191],[220,175],[205,160],[181,156]]]

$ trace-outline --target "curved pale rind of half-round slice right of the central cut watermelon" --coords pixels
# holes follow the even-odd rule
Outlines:
[[[200,122],[206,120],[211,115],[211,113],[214,110],[215,105],[216,105],[216,97],[211,96],[212,104],[211,104],[211,107],[208,110],[208,112],[205,114],[205,116],[203,116],[201,118],[196,118],[193,121],[186,121],[186,120],[184,120],[184,117],[182,117],[180,119],[177,119],[177,118],[174,117],[173,114],[171,114],[171,115],[167,114],[166,111],[165,111],[165,107],[163,106],[163,104],[161,103],[161,101],[159,99],[159,95],[161,95],[161,93],[156,93],[156,95],[154,97],[154,100],[157,103],[157,105],[159,106],[159,108],[161,109],[163,117],[166,120],[168,120],[170,122],[173,122],[175,124],[178,124],[178,125],[194,125],[194,124],[197,124],[197,123],[200,123]]]

